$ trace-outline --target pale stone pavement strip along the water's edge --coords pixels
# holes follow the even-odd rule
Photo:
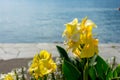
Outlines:
[[[56,45],[61,43],[0,43],[0,59],[32,58],[40,50],[48,50],[52,56],[58,56]],[[103,58],[115,56],[120,63],[120,43],[99,44],[99,54]]]

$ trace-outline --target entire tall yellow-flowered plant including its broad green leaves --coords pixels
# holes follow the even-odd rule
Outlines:
[[[62,58],[62,72],[65,80],[112,80],[120,79],[120,65],[115,61],[109,64],[98,55],[98,39],[94,38],[92,29],[96,25],[87,17],[81,22],[75,18],[67,23],[63,32],[67,51],[76,56],[71,58],[66,50],[57,46]],[[69,76],[72,75],[72,76]]]

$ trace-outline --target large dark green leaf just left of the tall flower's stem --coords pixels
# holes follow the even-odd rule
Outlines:
[[[70,62],[64,59],[63,65],[63,74],[65,80],[79,80],[81,78],[81,72]]]

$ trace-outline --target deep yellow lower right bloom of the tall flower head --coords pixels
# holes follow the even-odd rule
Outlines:
[[[94,56],[94,54],[98,54],[98,39],[88,37],[84,46],[80,48],[79,53],[80,58],[90,58]]]

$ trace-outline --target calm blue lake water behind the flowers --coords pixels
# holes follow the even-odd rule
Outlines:
[[[0,43],[63,42],[64,24],[88,16],[100,43],[120,43],[120,0],[0,0]]]

